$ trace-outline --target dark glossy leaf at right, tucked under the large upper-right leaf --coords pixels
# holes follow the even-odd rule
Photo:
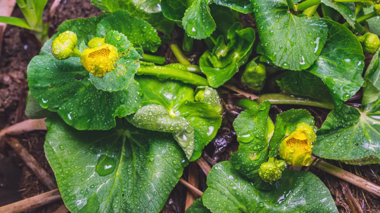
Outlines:
[[[335,107],[339,109],[364,83],[361,77],[364,68],[363,48],[347,27],[329,19],[324,20],[329,29],[328,40],[308,71],[325,83]]]

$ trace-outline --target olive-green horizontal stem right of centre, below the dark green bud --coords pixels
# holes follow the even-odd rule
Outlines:
[[[313,107],[321,107],[329,110],[334,109],[334,103],[332,102],[321,102],[319,100],[307,98],[307,97],[296,97],[290,96],[287,94],[262,94],[259,96],[256,101],[258,103],[263,102],[264,100],[269,100],[271,104],[294,104],[294,105],[306,105]]]

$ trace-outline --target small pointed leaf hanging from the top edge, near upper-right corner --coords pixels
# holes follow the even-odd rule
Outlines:
[[[355,3],[353,2],[334,2],[333,0],[321,0],[325,5],[336,9],[344,19],[355,29],[356,14]]]

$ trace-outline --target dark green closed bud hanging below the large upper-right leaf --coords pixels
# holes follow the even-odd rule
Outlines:
[[[251,89],[260,91],[264,87],[266,69],[264,64],[256,64],[255,60],[256,58],[250,61],[245,67],[241,82]]]

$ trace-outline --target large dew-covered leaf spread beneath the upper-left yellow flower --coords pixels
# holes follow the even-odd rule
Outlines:
[[[38,55],[27,70],[30,91],[41,107],[57,111],[67,124],[79,130],[115,127],[116,116],[135,113],[141,105],[140,88],[134,80],[125,90],[98,90],[87,79],[89,72],[77,57],[57,60],[51,55]]]

